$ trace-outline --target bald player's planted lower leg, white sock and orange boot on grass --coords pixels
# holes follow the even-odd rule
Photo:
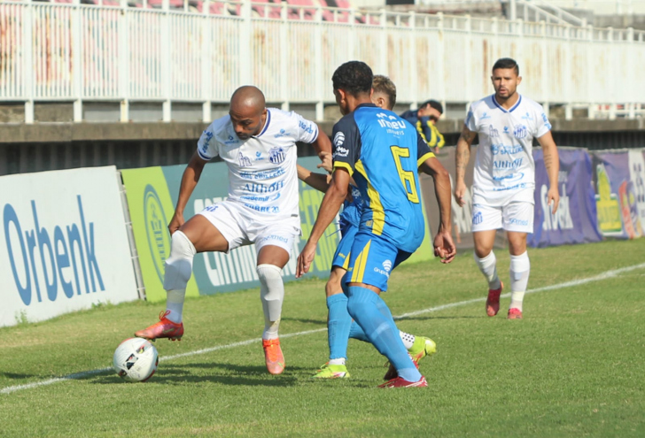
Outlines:
[[[284,355],[278,338],[280,315],[284,301],[284,282],[282,269],[276,265],[258,265],[256,269],[260,280],[260,300],[264,311],[264,333],[262,348],[268,373],[284,372]]]

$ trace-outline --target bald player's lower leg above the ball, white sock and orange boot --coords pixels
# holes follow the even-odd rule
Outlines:
[[[166,259],[166,311],[159,314],[159,322],[135,332],[136,337],[154,341],[168,338],[171,341],[181,340],[183,336],[183,301],[186,297],[186,285],[192,273],[192,259],[195,257],[195,246],[182,231],[175,231],[171,239],[170,257]]]

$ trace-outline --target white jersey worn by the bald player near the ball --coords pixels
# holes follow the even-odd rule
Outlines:
[[[229,201],[270,219],[295,218],[299,227],[296,142],[315,142],[318,127],[291,111],[268,108],[260,134],[240,140],[230,116],[201,134],[199,157],[221,157],[229,166]]]

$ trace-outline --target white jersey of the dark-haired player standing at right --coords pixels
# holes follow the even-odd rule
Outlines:
[[[525,96],[506,110],[487,96],[470,105],[466,127],[479,135],[473,178],[473,204],[533,204],[533,138],[551,129],[542,105]]]

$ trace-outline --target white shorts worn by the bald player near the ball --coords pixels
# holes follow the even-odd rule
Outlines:
[[[256,254],[263,247],[273,245],[291,256],[293,242],[301,234],[299,218],[268,220],[266,216],[254,213],[244,205],[230,201],[209,205],[198,212],[229,242],[227,254],[240,246],[255,243]]]

